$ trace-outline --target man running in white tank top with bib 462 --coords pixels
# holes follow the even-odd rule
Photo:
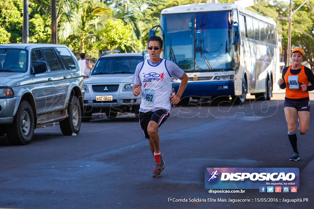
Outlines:
[[[187,74],[175,63],[160,58],[163,40],[150,36],[147,40],[149,60],[138,64],[133,76],[133,94],[142,93],[139,121],[156,164],[152,177],[160,177],[165,168],[164,156],[160,152],[158,128],[170,115],[171,104],[176,105],[187,86]],[[171,77],[181,79],[176,95],[171,95]]]

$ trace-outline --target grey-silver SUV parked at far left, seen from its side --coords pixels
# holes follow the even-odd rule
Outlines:
[[[0,44],[0,136],[29,144],[36,125],[59,122],[78,133],[83,77],[71,50],[58,44]]]

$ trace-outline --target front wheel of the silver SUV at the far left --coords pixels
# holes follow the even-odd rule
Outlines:
[[[8,141],[11,144],[29,144],[34,135],[34,114],[30,103],[23,101],[20,103],[13,122],[8,125],[6,131]]]

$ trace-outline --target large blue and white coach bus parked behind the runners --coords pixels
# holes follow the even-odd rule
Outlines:
[[[260,100],[272,97],[280,76],[272,18],[235,4],[199,3],[163,9],[159,27],[163,57],[189,77],[181,103],[203,96],[230,96],[241,103],[247,93]],[[179,82],[172,83],[175,91]]]

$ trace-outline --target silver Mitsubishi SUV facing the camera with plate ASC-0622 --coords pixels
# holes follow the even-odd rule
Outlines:
[[[110,54],[115,53],[115,54]],[[138,115],[141,96],[134,97],[132,78],[144,53],[120,53],[106,51],[95,63],[89,78],[84,79],[84,116],[89,121],[92,113],[106,113],[115,118],[118,112],[134,112]]]

